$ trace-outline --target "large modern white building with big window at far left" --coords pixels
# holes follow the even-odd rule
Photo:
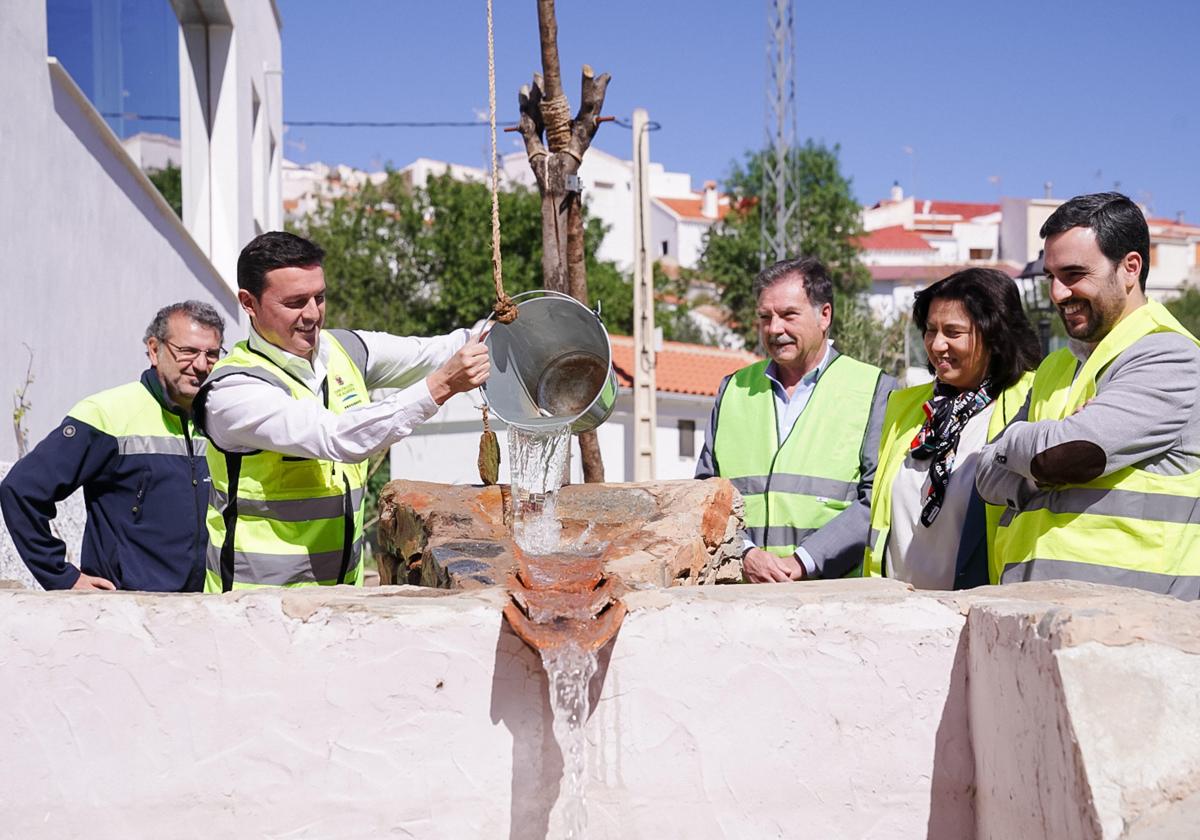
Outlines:
[[[0,14],[0,394],[7,400],[24,385],[31,358],[23,424],[31,444],[79,398],[138,377],[142,335],[164,304],[206,300],[226,317],[227,341],[240,338],[238,253],[282,222],[275,4],[170,7],[179,20],[182,221],[48,54],[47,4],[19,0]],[[94,19],[121,10],[97,5]],[[119,20],[106,23],[120,31]],[[97,49],[92,59],[114,55]],[[0,436],[0,461],[16,454],[14,436]]]

